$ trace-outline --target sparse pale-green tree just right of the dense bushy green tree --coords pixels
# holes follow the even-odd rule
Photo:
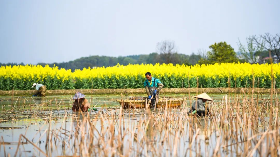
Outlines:
[[[258,62],[260,56],[260,52],[263,51],[264,47],[261,45],[265,44],[264,40],[259,40],[260,44],[254,43],[254,38],[252,36],[249,36],[246,38],[247,40],[247,48],[241,44],[239,38],[238,38],[238,47],[239,52],[241,53],[241,58],[245,59],[246,62],[249,62],[251,64],[255,64]]]

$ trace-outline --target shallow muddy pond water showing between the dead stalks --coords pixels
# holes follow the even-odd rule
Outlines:
[[[183,97],[182,95],[178,95],[178,97]],[[78,125],[81,125],[81,121],[83,120],[83,116],[78,113],[74,113],[71,111],[71,96],[47,96],[44,98],[40,97],[0,97],[0,105],[2,108],[1,123],[0,123],[0,136],[2,143],[0,146],[0,156],[4,156],[5,154],[10,154],[14,156],[17,152],[17,156],[59,156],[59,155],[81,155],[80,152],[75,151],[74,144],[75,142],[69,138],[74,134],[74,130]],[[97,113],[109,115],[118,114],[119,104],[116,102],[116,99],[120,98],[120,95],[110,95],[110,96],[94,96],[87,97],[90,101],[90,105],[92,107],[98,109],[97,112],[90,112],[87,116],[90,119],[96,117]],[[222,96],[216,95],[216,101],[221,101]],[[188,104],[188,102],[186,102]],[[16,109],[15,109],[16,108]],[[69,109],[70,108],[70,109]],[[124,110],[123,111],[123,119],[122,126],[127,128],[132,128],[135,125],[138,125],[139,121],[145,120],[149,117],[149,115],[153,114],[164,114],[163,110],[156,110],[150,114],[146,113],[144,110]],[[179,115],[180,112],[177,109],[171,109],[168,111],[169,113],[174,113],[175,115]],[[51,117],[51,118],[50,118]],[[101,124],[101,121],[97,121],[95,124],[96,131],[101,132],[101,126],[107,127],[110,120],[104,120],[104,123]],[[211,132],[209,129],[205,129],[206,126],[211,125],[211,119],[201,119],[197,122],[197,128],[199,128],[199,133],[196,137],[192,137],[192,141],[189,141],[189,133],[188,129],[193,126],[189,126],[187,120],[182,124],[185,126],[185,132],[181,133],[178,137],[178,148],[177,154],[174,154],[174,136],[170,135],[169,142],[160,141],[160,137],[165,132],[155,132],[155,138],[153,144],[157,145],[156,147],[160,151],[163,156],[212,156],[216,149],[217,142],[221,142],[221,138],[223,135],[218,134],[217,132]],[[259,125],[262,124],[259,122]],[[17,127],[17,129],[14,129]],[[118,126],[115,126],[116,135],[118,132]],[[148,131],[150,128],[147,128]],[[171,128],[172,129],[172,128]],[[236,128],[235,128],[236,129]],[[264,132],[264,127],[259,127],[259,132]],[[52,130],[55,132],[57,136],[52,136],[52,144],[46,145],[47,142],[47,132],[48,130]],[[85,131],[88,134],[88,130]],[[174,131],[175,132],[175,131]],[[237,133],[239,129],[237,129]],[[138,133],[138,138],[140,136],[150,136],[148,132],[146,133]],[[24,139],[23,137],[19,139],[20,135],[26,137],[29,141]],[[58,136],[59,135],[59,136]],[[192,135],[194,136],[194,135]],[[259,136],[258,136],[259,137]],[[209,138],[209,139],[207,139]],[[18,145],[18,141],[20,144]],[[67,141],[64,143],[63,141]],[[145,149],[139,146],[137,142],[129,144],[131,141],[131,137],[129,135],[124,136],[123,139],[123,148],[125,150],[130,150],[129,156],[139,155],[139,150],[143,152],[147,152],[147,154],[141,154],[141,156],[152,156],[152,153],[146,151]],[[226,145],[234,144],[235,142],[228,142],[218,145],[219,153],[221,156],[237,156],[242,153],[241,147],[228,146]],[[192,146],[190,147],[190,144]],[[36,145],[38,148],[36,148]],[[146,147],[149,147],[149,143],[144,144]],[[265,144],[262,145],[264,148]],[[96,149],[97,148],[92,148]],[[45,153],[45,154],[44,154]],[[111,155],[111,153],[109,153]]]

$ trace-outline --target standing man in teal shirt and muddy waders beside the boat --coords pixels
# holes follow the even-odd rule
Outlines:
[[[159,79],[153,78],[150,72],[145,74],[146,80],[144,81],[144,87],[146,89],[146,93],[149,96],[149,100],[152,95],[153,99],[151,100],[151,107],[154,108],[156,104],[156,95],[158,96],[159,91],[164,86]]]

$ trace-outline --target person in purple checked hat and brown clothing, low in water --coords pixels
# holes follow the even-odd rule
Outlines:
[[[89,108],[88,100],[85,98],[85,95],[83,95],[80,92],[76,92],[76,94],[73,96],[73,112],[81,111],[87,111]]]

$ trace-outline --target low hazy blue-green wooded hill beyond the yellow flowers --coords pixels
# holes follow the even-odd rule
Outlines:
[[[64,69],[71,69],[74,71],[75,69],[83,69],[88,67],[108,67],[108,66],[115,66],[116,64],[121,65],[128,65],[128,64],[155,64],[155,63],[167,63],[165,62],[165,58],[169,57],[171,58],[172,64],[186,64],[186,65],[195,65],[201,58],[200,55],[191,54],[191,55],[185,55],[185,54],[169,54],[166,56],[166,54],[158,54],[158,53],[151,53],[148,55],[128,55],[126,57],[109,57],[109,56],[89,56],[89,57],[81,57],[78,59],[75,59],[74,61],[69,62],[61,62],[61,63],[38,63],[37,65],[45,66],[48,64],[49,66],[58,66],[59,68]],[[0,63],[0,66],[6,66],[6,65],[24,65],[23,63],[17,64],[17,63]]]

